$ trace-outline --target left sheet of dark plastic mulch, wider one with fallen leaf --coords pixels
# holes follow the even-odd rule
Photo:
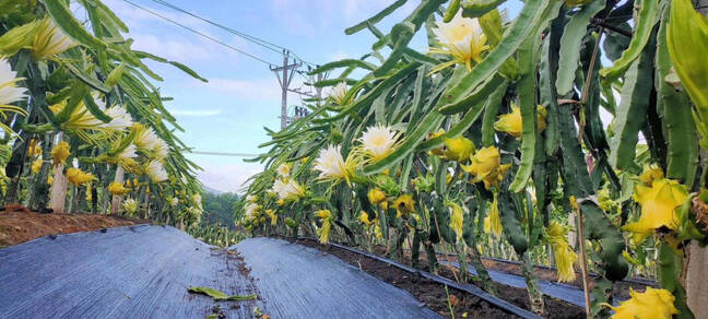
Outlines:
[[[262,308],[187,292],[251,293],[237,261],[211,248],[176,228],[143,225],[0,249],[0,318],[204,318],[215,306],[235,318]]]

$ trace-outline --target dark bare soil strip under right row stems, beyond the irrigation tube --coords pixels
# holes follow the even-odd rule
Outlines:
[[[288,240],[293,241],[292,239]],[[441,316],[451,317],[448,307],[448,296],[442,284],[420,277],[382,261],[370,259],[349,250],[329,245],[320,245],[315,240],[300,239],[297,240],[297,244],[332,253],[387,283],[408,291],[418,300],[425,303],[428,308]],[[377,251],[376,255],[381,256],[380,251]],[[446,268],[440,268],[439,275],[455,280],[452,273]],[[529,297],[526,290],[497,284],[497,291],[499,298],[530,310]],[[467,318],[515,317],[467,292],[449,288],[449,300],[456,304],[453,307],[456,317],[462,317],[465,312],[468,314]],[[555,298],[546,297],[545,307],[547,318],[585,318],[582,308]]]

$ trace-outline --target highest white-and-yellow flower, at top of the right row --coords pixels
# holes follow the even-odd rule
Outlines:
[[[480,62],[482,52],[489,48],[480,22],[476,19],[462,17],[462,12],[458,12],[448,23],[438,21],[436,25],[433,33],[442,48],[432,48],[430,52],[449,55],[453,60],[436,67],[434,72],[455,63],[464,64],[468,70],[472,70],[472,61]]]

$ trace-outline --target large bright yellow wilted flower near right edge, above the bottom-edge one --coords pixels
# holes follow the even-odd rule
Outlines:
[[[666,227],[676,231],[678,220],[674,210],[686,201],[686,187],[675,180],[654,179],[651,187],[637,185],[634,200],[641,205],[639,221],[628,223],[623,231],[635,234],[635,244],[644,241],[656,229]]]

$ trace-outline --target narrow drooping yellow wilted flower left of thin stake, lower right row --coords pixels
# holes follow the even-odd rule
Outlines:
[[[545,239],[553,248],[558,268],[558,282],[571,282],[576,277],[573,265],[578,256],[568,244],[567,233],[568,229],[556,221],[548,222],[548,226],[545,228]]]

